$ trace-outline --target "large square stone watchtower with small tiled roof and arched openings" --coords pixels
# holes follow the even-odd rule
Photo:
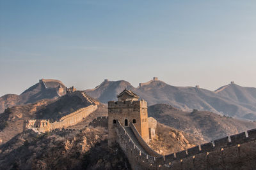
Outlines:
[[[139,101],[139,96],[125,89],[118,96],[118,101],[108,102],[108,145],[116,141],[115,125],[119,121],[124,127],[134,124],[141,137],[148,142],[148,111],[147,102]]]

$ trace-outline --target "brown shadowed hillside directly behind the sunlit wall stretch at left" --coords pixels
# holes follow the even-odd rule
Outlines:
[[[54,122],[68,113],[89,105],[77,96],[66,95],[58,99],[43,99],[32,104],[13,106],[0,114],[0,139],[2,143],[5,143],[22,132],[24,120],[49,119],[50,122]],[[103,105],[100,105],[98,110],[101,110],[102,107]],[[97,113],[101,114],[100,111]],[[93,115],[98,116],[96,113]],[[91,116],[92,119],[95,118],[93,115]]]

